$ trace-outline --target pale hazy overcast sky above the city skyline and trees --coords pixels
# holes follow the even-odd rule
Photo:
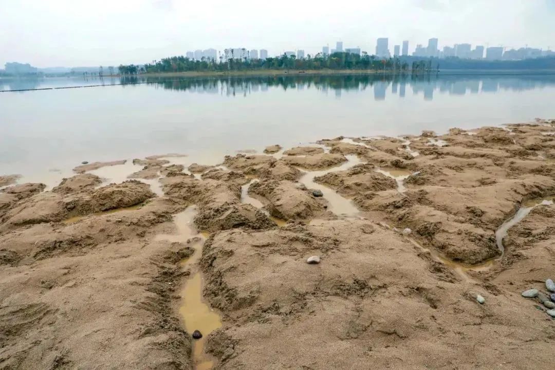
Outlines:
[[[555,0],[0,0],[0,68],[145,63],[187,50],[393,44],[555,49]]]

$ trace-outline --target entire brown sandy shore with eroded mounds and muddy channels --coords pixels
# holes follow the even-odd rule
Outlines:
[[[551,368],[555,321],[520,293],[555,278],[553,133],[1,176],[0,369]]]

